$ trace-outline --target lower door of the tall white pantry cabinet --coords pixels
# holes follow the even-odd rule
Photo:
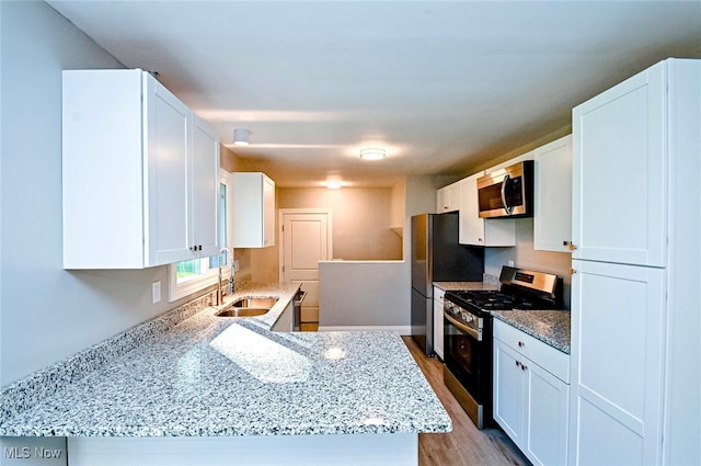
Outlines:
[[[573,268],[571,463],[659,464],[665,271]]]

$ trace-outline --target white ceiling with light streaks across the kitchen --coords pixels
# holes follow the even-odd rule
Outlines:
[[[669,56],[701,57],[701,1],[48,2],[160,80],[278,185],[466,173],[570,125]],[[363,162],[359,149],[387,148]]]

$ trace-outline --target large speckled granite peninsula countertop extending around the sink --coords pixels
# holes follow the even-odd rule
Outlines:
[[[280,299],[261,317],[217,317],[217,309],[200,306],[165,325],[161,320],[174,319],[166,314],[87,350],[89,357],[79,355],[3,387],[0,435],[450,431],[450,418],[399,334],[272,332],[297,288],[244,286],[230,300]],[[134,339],[139,340],[134,348],[111,350]],[[94,363],[95,357],[102,360]],[[94,367],[76,374],[89,363]],[[56,384],[53,393],[43,393],[50,384]]]

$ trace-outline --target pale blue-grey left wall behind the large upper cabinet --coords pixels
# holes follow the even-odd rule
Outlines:
[[[123,65],[47,3],[1,1],[0,9],[0,385],[4,386],[173,304],[166,299],[166,268],[61,269],[61,70]],[[151,304],[154,281],[161,281],[164,289],[158,305]]]

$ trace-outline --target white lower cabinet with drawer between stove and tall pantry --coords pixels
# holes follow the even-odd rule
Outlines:
[[[568,356],[494,320],[494,420],[535,465],[567,463]]]

